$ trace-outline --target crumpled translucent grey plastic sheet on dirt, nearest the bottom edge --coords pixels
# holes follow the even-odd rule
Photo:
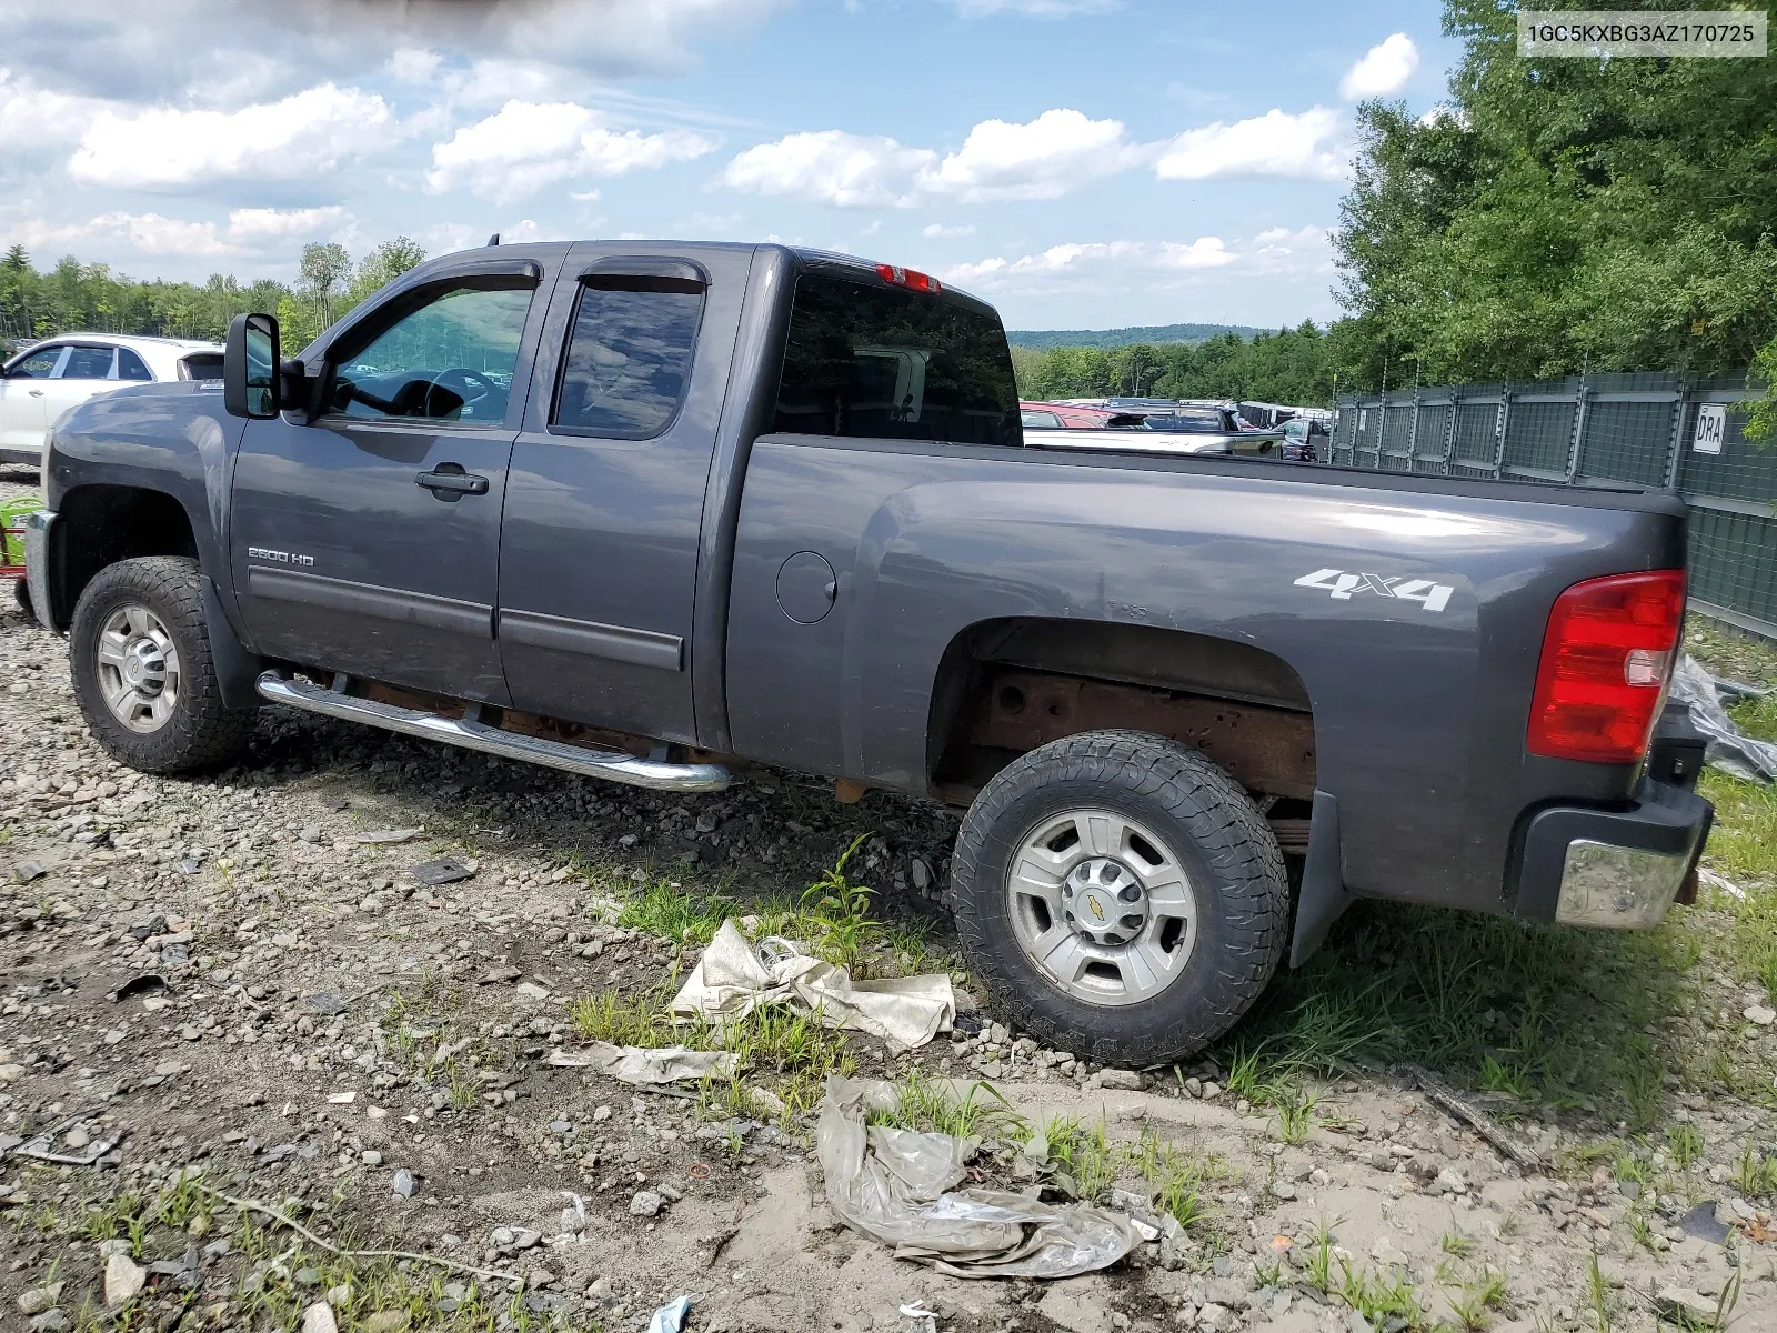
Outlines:
[[[951,1134],[865,1125],[896,1104],[881,1079],[826,1079],[816,1146],[833,1214],[894,1246],[896,1258],[954,1278],[1073,1278],[1141,1244],[1130,1217],[1088,1203],[1041,1203],[1002,1189],[952,1189],[976,1145]]]

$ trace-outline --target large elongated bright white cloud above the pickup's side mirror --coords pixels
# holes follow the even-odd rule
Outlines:
[[[332,84],[236,112],[103,110],[68,172],[87,185],[176,190],[229,180],[313,180],[386,148],[389,103]]]

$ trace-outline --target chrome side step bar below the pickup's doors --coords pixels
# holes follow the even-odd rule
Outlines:
[[[464,750],[498,754],[503,759],[522,759],[528,764],[560,768],[567,773],[627,782],[631,787],[721,791],[734,780],[734,775],[721,764],[668,764],[665,759],[636,759],[617,750],[588,750],[537,736],[517,736],[473,718],[441,718],[437,713],[419,713],[396,704],[379,704],[373,698],[354,698],[341,690],[286,681],[277,672],[259,675],[256,688],[261,698],[270,698],[274,704],[325,713],[329,718],[345,718],[347,722],[364,722],[426,741],[460,745]]]

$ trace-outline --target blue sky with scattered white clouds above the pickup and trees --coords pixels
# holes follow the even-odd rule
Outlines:
[[[1336,313],[1352,107],[1429,0],[0,0],[0,245],[139,275],[563,236],[778,238],[1025,329]]]

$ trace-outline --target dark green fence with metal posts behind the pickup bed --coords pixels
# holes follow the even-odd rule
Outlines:
[[[1391,473],[1669,487],[1690,503],[1692,610],[1777,640],[1777,444],[1745,439],[1745,373],[1448,384],[1340,398],[1333,462]]]

